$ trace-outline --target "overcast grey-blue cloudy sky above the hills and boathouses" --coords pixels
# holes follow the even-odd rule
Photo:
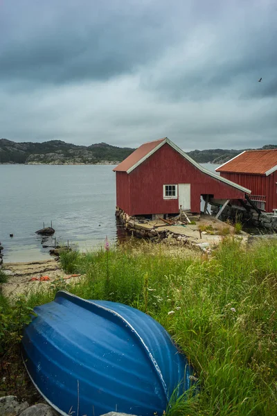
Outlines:
[[[276,144],[276,0],[0,0],[0,127],[86,146]]]

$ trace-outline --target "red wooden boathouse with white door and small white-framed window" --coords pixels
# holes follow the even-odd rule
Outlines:
[[[180,205],[199,213],[201,196],[226,201],[251,193],[200,166],[167,137],[143,144],[114,171],[116,205],[129,216],[175,214]]]

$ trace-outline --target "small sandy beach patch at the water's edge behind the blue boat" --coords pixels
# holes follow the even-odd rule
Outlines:
[[[21,293],[28,293],[39,288],[53,284],[56,279],[76,279],[70,277],[60,268],[60,263],[53,259],[42,261],[28,261],[26,263],[5,263],[4,272],[8,275],[8,282],[2,285],[2,293],[5,296],[13,297]],[[30,280],[33,277],[40,279],[47,276],[49,280]]]

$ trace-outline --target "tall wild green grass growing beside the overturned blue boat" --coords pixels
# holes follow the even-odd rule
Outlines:
[[[49,302],[66,287],[87,299],[141,309],[166,327],[199,379],[199,394],[172,397],[168,415],[277,415],[277,243],[248,248],[226,238],[209,259],[169,250],[145,243],[141,249],[64,252],[66,271],[84,278],[42,286],[26,307]],[[2,343],[8,336],[6,329]]]

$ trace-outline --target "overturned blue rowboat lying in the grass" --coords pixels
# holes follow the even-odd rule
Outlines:
[[[186,357],[137,309],[60,291],[35,313],[22,339],[24,363],[62,415],[162,415],[172,392],[190,387]]]

